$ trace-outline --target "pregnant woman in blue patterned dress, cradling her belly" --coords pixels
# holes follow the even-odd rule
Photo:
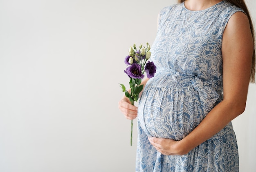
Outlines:
[[[243,0],[180,0],[158,17],[157,66],[138,108],[137,172],[238,172],[231,120],[255,78],[252,21]]]

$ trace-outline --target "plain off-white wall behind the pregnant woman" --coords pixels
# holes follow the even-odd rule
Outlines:
[[[0,172],[135,171],[137,120],[130,146],[118,109],[124,57],[153,44],[158,12],[175,2],[0,0]],[[255,170],[255,100],[250,84],[233,122],[242,172]]]

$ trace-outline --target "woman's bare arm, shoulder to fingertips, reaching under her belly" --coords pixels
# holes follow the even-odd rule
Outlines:
[[[165,155],[184,155],[224,128],[243,113],[252,65],[253,39],[249,21],[243,12],[231,16],[222,39],[223,101],[180,141],[149,138]]]

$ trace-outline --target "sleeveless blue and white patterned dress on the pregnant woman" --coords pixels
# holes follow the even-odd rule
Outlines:
[[[136,172],[238,172],[231,122],[186,155],[162,155],[148,136],[181,140],[223,100],[222,34],[240,8],[221,1],[202,11],[165,7],[150,60],[157,66],[138,105]],[[228,113],[228,112],[227,112]]]

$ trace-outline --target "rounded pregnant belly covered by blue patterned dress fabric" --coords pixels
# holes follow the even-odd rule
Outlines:
[[[192,87],[146,85],[139,101],[138,120],[148,136],[181,140],[202,121],[200,99]]]

